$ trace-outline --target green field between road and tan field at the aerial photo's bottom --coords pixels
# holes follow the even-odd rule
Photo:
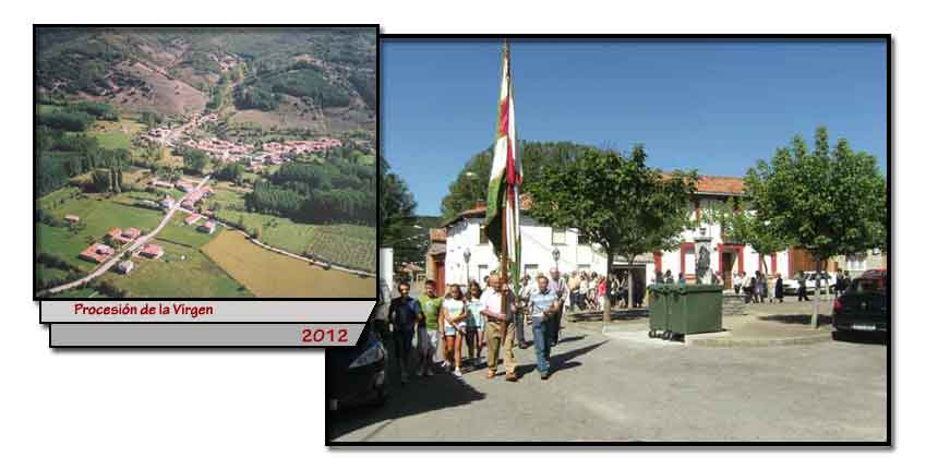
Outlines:
[[[160,234],[163,231],[160,231]],[[239,298],[251,292],[225,273],[197,249],[159,242],[163,257],[134,257],[129,275],[109,272],[101,276],[133,297]]]

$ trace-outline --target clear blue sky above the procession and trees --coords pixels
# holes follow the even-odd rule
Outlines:
[[[436,215],[494,140],[500,41],[383,41],[384,156]],[[628,149],[649,164],[742,176],[795,133],[886,168],[886,43],[513,41],[519,136]]]

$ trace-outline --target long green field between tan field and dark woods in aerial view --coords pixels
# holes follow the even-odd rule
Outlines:
[[[357,225],[306,225],[288,218],[249,212],[223,209],[219,219],[243,225],[248,232],[260,230],[260,239],[266,244],[292,253],[316,257],[374,272],[375,231],[371,227]]]

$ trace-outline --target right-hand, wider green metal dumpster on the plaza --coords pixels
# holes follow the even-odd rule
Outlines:
[[[723,330],[722,285],[685,285],[671,298],[666,336]]]

